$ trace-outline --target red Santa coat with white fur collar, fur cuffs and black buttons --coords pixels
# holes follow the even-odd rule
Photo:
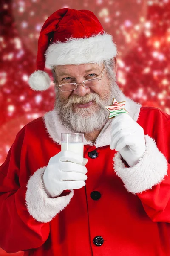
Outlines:
[[[17,134],[0,169],[0,247],[25,256],[170,255],[170,116],[127,103],[146,134],[142,159],[128,168],[110,149],[109,120],[94,145],[85,141],[86,186],[58,198],[42,175],[69,130],[51,111]]]

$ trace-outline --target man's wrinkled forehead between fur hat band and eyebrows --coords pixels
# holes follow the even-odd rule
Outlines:
[[[97,64],[97,63],[87,63],[87,64],[79,64],[79,65],[62,65],[62,66],[55,66],[55,72],[57,76],[62,76],[63,74],[79,74],[84,75],[85,73],[96,71],[101,72],[102,67],[104,65]]]

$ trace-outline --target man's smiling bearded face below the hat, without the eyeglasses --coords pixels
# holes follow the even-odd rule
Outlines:
[[[66,83],[82,84],[82,81],[102,75],[103,64],[80,64],[56,66],[58,85]],[[112,81],[112,82],[111,82]],[[108,79],[105,73],[96,86],[85,88],[82,85],[76,90],[62,92],[57,89],[55,109],[62,124],[71,130],[81,133],[91,133],[101,130],[108,120],[108,110],[105,106],[113,101],[114,77]]]

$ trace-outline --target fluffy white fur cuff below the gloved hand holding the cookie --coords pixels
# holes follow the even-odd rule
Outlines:
[[[155,140],[145,135],[146,151],[139,162],[126,168],[118,152],[113,158],[116,174],[132,193],[140,193],[161,183],[167,175],[167,160],[156,146]]]

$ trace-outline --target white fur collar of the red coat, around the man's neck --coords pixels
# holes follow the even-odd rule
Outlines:
[[[117,100],[126,101],[125,108],[129,111],[129,115],[133,118],[134,121],[137,121],[141,105],[134,102],[132,99],[127,98],[122,92]],[[45,127],[47,128],[48,134],[51,139],[57,144],[61,145],[61,133],[70,133],[73,132],[62,125],[61,120],[55,110],[49,111],[44,116]],[[84,145],[95,145],[96,148],[103,147],[111,144],[111,122],[112,119],[109,119],[108,122],[103,127],[99,136],[96,139],[95,143],[87,141],[84,139]]]

